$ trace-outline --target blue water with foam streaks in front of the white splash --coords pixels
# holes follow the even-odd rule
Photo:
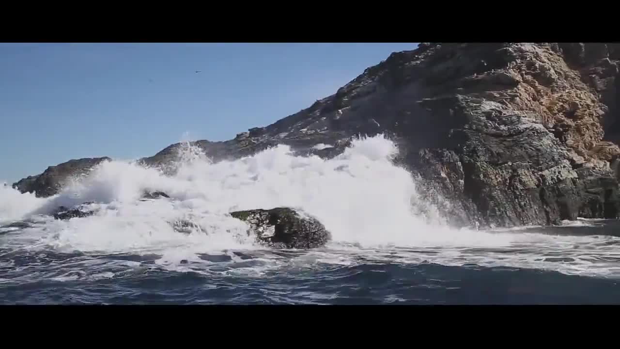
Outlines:
[[[454,258],[449,263],[439,258],[441,247],[355,254],[223,251],[168,264],[157,254],[86,255],[3,247],[0,302],[620,304],[620,245],[614,238],[619,226],[606,221],[590,227],[537,229],[549,235],[600,238],[600,245],[583,250],[582,240],[565,253],[541,249],[539,255],[540,246],[465,248],[450,252]],[[2,233],[2,241],[17,235],[19,230]],[[503,260],[524,266],[502,266]],[[541,267],[525,266],[526,261]]]

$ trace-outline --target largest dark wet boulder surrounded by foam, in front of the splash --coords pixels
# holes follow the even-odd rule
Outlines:
[[[317,219],[286,207],[236,211],[231,216],[249,224],[248,233],[255,233],[260,243],[273,248],[317,248],[331,238]]]

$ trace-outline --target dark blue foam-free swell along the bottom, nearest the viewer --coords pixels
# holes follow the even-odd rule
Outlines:
[[[2,304],[619,304],[613,279],[515,268],[368,264],[262,278],[149,271],[5,283]]]

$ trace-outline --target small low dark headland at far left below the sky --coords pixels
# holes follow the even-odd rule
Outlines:
[[[60,165],[50,166],[47,170],[36,176],[28,176],[13,184],[21,193],[35,193],[37,197],[48,197],[58,194],[68,179],[78,179],[86,175],[95,166],[103,161],[111,161],[111,158],[82,158],[69,160]]]

